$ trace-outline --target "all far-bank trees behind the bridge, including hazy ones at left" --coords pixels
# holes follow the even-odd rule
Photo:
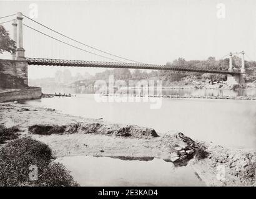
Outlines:
[[[241,58],[234,56],[232,58],[234,68],[240,68]],[[216,60],[214,57],[209,57],[207,60],[190,60],[178,58],[173,62],[167,62],[166,65],[182,65],[196,68],[212,68],[214,70],[228,70],[229,58]],[[256,62],[245,61],[247,83],[256,83]],[[66,69],[67,70],[67,69]],[[70,73],[70,72],[69,72]],[[162,86],[174,85],[205,85],[211,81],[226,81],[227,75],[212,74],[212,73],[192,73],[192,72],[176,72],[167,70],[129,70],[127,68],[115,68],[105,70],[104,72],[96,73],[95,75],[79,75],[72,76],[67,71],[57,72],[55,78],[45,78],[40,80],[31,80],[30,85],[41,86],[42,90],[48,92],[64,90],[64,92],[87,93],[93,92],[95,82],[97,80],[109,81],[109,75],[114,75],[114,81],[124,80],[126,85],[129,85],[129,80],[134,80],[134,85],[139,80],[162,80]],[[69,77],[69,78],[68,78]]]

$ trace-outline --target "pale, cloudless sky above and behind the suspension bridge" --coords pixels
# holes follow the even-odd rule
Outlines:
[[[73,39],[115,55],[145,63],[165,64],[175,58],[204,60],[245,51],[256,60],[256,1],[254,0],[87,0],[0,1],[0,17],[22,12]],[[0,23],[12,19],[0,19]],[[60,37],[40,25],[24,24],[94,53],[95,50]],[[4,24],[12,35],[11,23]],[[80,60],[107,59],[67,47],[23,27],[26,57]],[[0,58],[11,55],[0,55]],[[109,57],[109,55],[106,55]],[[113,57],[112,57],[113,58]],[[110,60],[111,61],[111,60]],[[72,74],[94,74],[102,68],[71,68]],[[29,67],[29,78],[54,76],[64,67]]]

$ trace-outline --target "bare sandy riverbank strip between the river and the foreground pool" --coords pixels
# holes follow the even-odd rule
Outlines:
[[[0,104],[0,121],[6,127],[18,127],[20,138],[44,142],[56,157],[93,155],[139,160],[157,157],[177,167],[192,165],[209,186],[250,186],[255,182],[255,149],[212,146],[193,141],[180,132],[159,136],[147,127],[112,124],[19,103]],[[220,175],[219,165],[225,168],[225,175]]]

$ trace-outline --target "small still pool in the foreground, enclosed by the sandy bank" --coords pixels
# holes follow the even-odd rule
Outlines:
[[[55,160],[64,164],[81,186],[204,186],[187,167],[174,167],[162,159],[120,160],[74,156]]]

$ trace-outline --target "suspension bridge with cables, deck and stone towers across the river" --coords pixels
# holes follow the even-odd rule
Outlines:
[[[216,68],[211,67],[195,67],[195,66],[187,66],[187,65],[155,65],[149,63],[141,63],[135,60],[121,57],[119,55],[114,55],[113,53],[106,52],[101,49],[97,49],[96,47],[92,47],[91,45],[84,44],[76,39],[72,39],[61,32],[57,32],[50,27],[47,27],[40,22],[31,19],[23,15],[21,12],[17,14],[12,14],[9,16],[0,17],[3,19],[5,17],[16,16],[16,19],[12,19],[6,22],[2,22],[0,24],[4,24],[7,22],[12,22],[13,28],[13,40],[17,44],[16,52],[12,53],[12,61],[15,61],[15,66],[22,72],[17,76],[22,76],[24,79],[24,83],[27,84],[27,65],[32,66],[60,66],[60,67],[96,67],[96,68],[130,68],[130,69],[147,69],[147,70],[172,70],[172,71],[180,71],[180,72],[198,72],[198,73],[216,73],[216,74],[224,74],[227,75],[227,80],[229,84],[243,84],[245,83],[245,60],[244,60],[244,52],[240,52],[242,54],[242,64],[241,68],[234,68],[232,65],[232,53],[229,53],[229,69],[228,70],[216,70]],[[30,22],[40,25],[44,29],[50,30],[54,34],[60,35],[62,38],[68,39],[72,42],[75,42],[79,46],[87,47],[94,52],[86,50],[78,45],[71,44],[62,39],[58,39],[50,34],[46,34],[46,32],[42,32],[35,27],[31,27],[31,25],[24,24],[23,19],[26,18]],[[89,53],[91,55],[95,55],[97,57],[104,58],[110,61],[94,61],[94,60],[68,60],[68,59],[60,59],[60,58],[47,58],[47,57],[25,57],[25,50],[23,47],[23,27],[30,29],[31,31],[37,32],[38,34],[44,35],[49,39],[54,40],[55,42],[59,42],[62,45],[66,45],[72,49],[80,50],[83,53]],[[34,45],[34,44],[32,44]],[[96,52],[97,53],[96,53]],[[225,55],[227,56],[227,55]],[[18,67],[17,67],[18,66]]]

